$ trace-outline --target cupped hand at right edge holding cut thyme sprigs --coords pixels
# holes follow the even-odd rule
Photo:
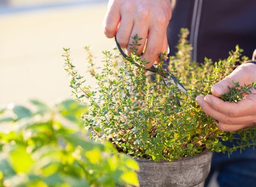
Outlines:
[[[251,90],[251,94],[238,103],[229,103],[219,98],[230,91],[229,87],[234,87],[232,80],[240,85],[256,82],[256,65],[242,64],[211,88],[213,95],[200,95],[196,99],[205,113],[218,120],[218,128],[223,131],[237,131],[256,123],[256,90]]]

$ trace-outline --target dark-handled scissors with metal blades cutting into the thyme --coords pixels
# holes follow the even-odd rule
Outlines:
[[[123,52],[121,46],[117,42],[116,37],[115,37],[115,43],[117,44],[117,48],[121,52],[123,57],[127,59],[128,56],[125,54],[125,52]],[[133,62],[133,63],[135,64],[135,66],[139,66],[138,63],[136,63],[136,62]],[[150,71],[150,72],[154,72],[155,74],[159,74],[162,77],[162,80],[163,80],[163,83],[165,83],[165,86],[169,87],[169,86],[171,86],[171,84],[174,84],[184,94],[187,94],[187,90],[185,89],[185,87],[181,83],[179,83],[178,79],[174,75],[172,75],[171,72],[168,70],[166,60],[164,60],[162,68],[163,68],[163,73],[161,73],[161,74],[157,72],[157,70],[154,66],[152,66],[151,68],[147,67],[146,70]],[[179,103],[179,101],[178,101],[178,103]]]

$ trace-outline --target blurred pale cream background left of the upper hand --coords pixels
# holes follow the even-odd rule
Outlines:
[[[72,97],[63,47],[93,84],[83,47],[91,47],[97,66],[113,48],[102,32],[106,8],[106,0],[0,0],[0,105]]]

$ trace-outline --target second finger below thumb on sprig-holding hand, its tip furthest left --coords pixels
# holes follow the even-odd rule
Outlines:
[[[211,107],[205,100],[204,96],[198,96],[196,101],[201,106],[203,112],[207,115],[213,117],[215,120],[218,120],[219,123],[223,124],[231,124],[231,125],[240,125],[245,123],[253,123],[255,120],[254,115],[246,115],[246,116],[239,116],[239,117],[232,117],[226,115],[225,113],[219,112]],[[227,103],[227,102],[225,102]],[[234,103],[235,104],[235,103]]]

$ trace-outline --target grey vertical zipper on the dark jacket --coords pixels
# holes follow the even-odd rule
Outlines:
[[[190,44],[193,47],[191,60],[197,62],[198,30],[202,12],[203,0],[195,0],[190,29]]]

